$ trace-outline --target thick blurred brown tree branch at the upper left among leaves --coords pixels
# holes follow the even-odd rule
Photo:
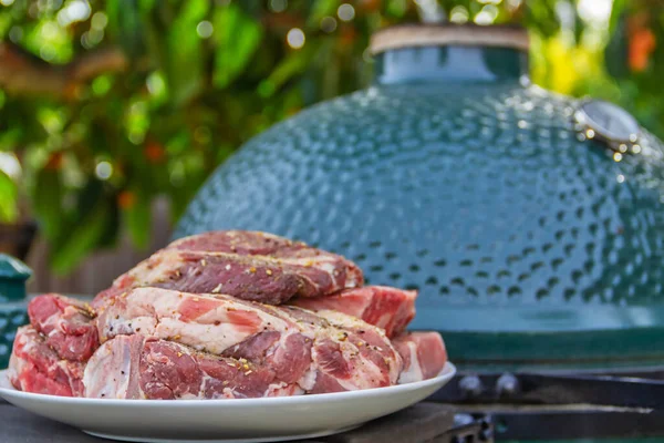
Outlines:
[[[127,58],[117,48],[91,51],[66,64],[51,64],[11,42],[0,42],[0,87],[12,95],[71,100],[86,81],[122,72],[127,65]]]

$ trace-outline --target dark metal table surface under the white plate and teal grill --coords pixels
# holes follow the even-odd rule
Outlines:
[[[631,375],[458,374],[427,402],[300,442],[490,443],[494,433],[501,441],[662,437],[664,381]],[[0,400],[0,443],[101,441]]]

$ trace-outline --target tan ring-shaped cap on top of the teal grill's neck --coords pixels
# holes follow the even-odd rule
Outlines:
[[[382,29],[371,38],[370,51],[385,51],[415,47],[495,47],[527,52],[528,31],[518,25],[478,24],[401,24]]]

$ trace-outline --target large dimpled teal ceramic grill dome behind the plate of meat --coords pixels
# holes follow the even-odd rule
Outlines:
[[[630,126],[611,119],[587,131],[582,102],[529,83],[519,30],[423,28],[374,48],[367,90],[247,143],[176,236],[343,254],[370,284],[419,289],[412,328],[461,368],[663,363],[662,143],[636,127],[609,145],[602,124]]]

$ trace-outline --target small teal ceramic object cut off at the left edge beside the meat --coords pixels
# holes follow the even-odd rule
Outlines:
[[[31,275],[23,262],[0,254],[0,369],[9,362],[17,328],[28,322],[25,281]]]

